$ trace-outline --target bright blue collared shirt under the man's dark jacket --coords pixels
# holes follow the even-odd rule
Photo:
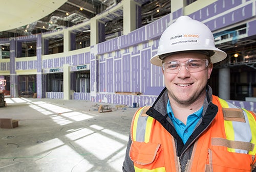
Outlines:
[[[187,124],[185,125],[181,120],[174,116],[172,107],[170,107],[170,102],[168,101],[167,103],[167,114],[173,121],[174,127],[184,144],[186,143],[189,136],[193,133],[199,119],[202,117],[202,113],[203,106],[201,109],[187,117]]]

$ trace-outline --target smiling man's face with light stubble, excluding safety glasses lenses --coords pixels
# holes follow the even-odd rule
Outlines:
[[[171,102],[190,105],[197,101],[203,101],[205,97],[205,86],[210,78],[212,63],[201,71],[189,72],[185,62],[189,59],[206,59],[206,56],[199,53],[178,53],[164,58],[163,62],[179,61],[181,68],[177,73],[168,73],[162,69],[164,83],[168,90]]]

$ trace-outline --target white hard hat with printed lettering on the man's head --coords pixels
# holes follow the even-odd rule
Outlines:
[[[215,47],[214,36],[205,24],[188,16],[181,16],[163,32],[157,54],[150,62],[162,66],[162,60],[166,55],[186,51],[208,53],[212,63],[222,61],[227,56]]]

